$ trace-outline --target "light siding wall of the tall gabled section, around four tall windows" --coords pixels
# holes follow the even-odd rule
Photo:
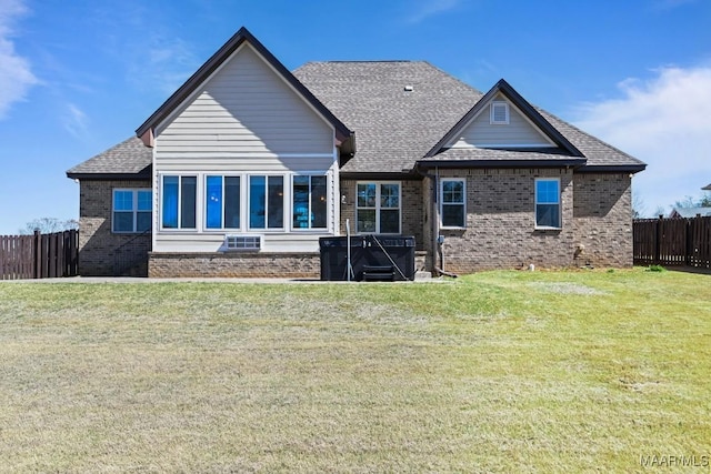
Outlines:
[[[153,160],[153,252],[218,252],[224,250],[228,234],[261,235],[262,252],[317,252],[319,236],[338,229],[334,130],[248,43],[157,128]],[[198,178],[197,229],[161,229],[159,196],[166,174]],[[206,228],[208,174],[241,177],[241,229]],[[283,230],[252,231],[247,226],[248,177],[264,174],[284,178]],[[328,230],[291,230],[294,174],[329,177]]]

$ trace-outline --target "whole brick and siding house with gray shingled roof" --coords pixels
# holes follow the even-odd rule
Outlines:
[[[80,182],[80,272],[317,276],[319,239],[411,235],[419,270],[632,264],[645,164],[424,61],[290,72],[240,29]]]

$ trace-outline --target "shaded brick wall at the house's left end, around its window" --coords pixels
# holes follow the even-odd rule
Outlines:
[[[80,182],[79,199],[79,274],[82,276],[114,275],[124,262],[146,255],[151,249],[151,235],[114,234],[111,232],[112,192],[116,188],[150,188],[150,181]],[[130,272],[131,269],[127,269]],[[133,269],[147,272],[146,264]],[[137,273],[132,273],[137,274]]]

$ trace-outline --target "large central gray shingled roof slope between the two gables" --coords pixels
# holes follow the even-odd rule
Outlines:
[[[356,132],[342,173],[412,170],[483,95],[424,61],[309,62],[293,73]]]

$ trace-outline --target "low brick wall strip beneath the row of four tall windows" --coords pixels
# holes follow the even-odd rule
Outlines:
[[[319,278],[319,253],[150,253],[151,278]]]

